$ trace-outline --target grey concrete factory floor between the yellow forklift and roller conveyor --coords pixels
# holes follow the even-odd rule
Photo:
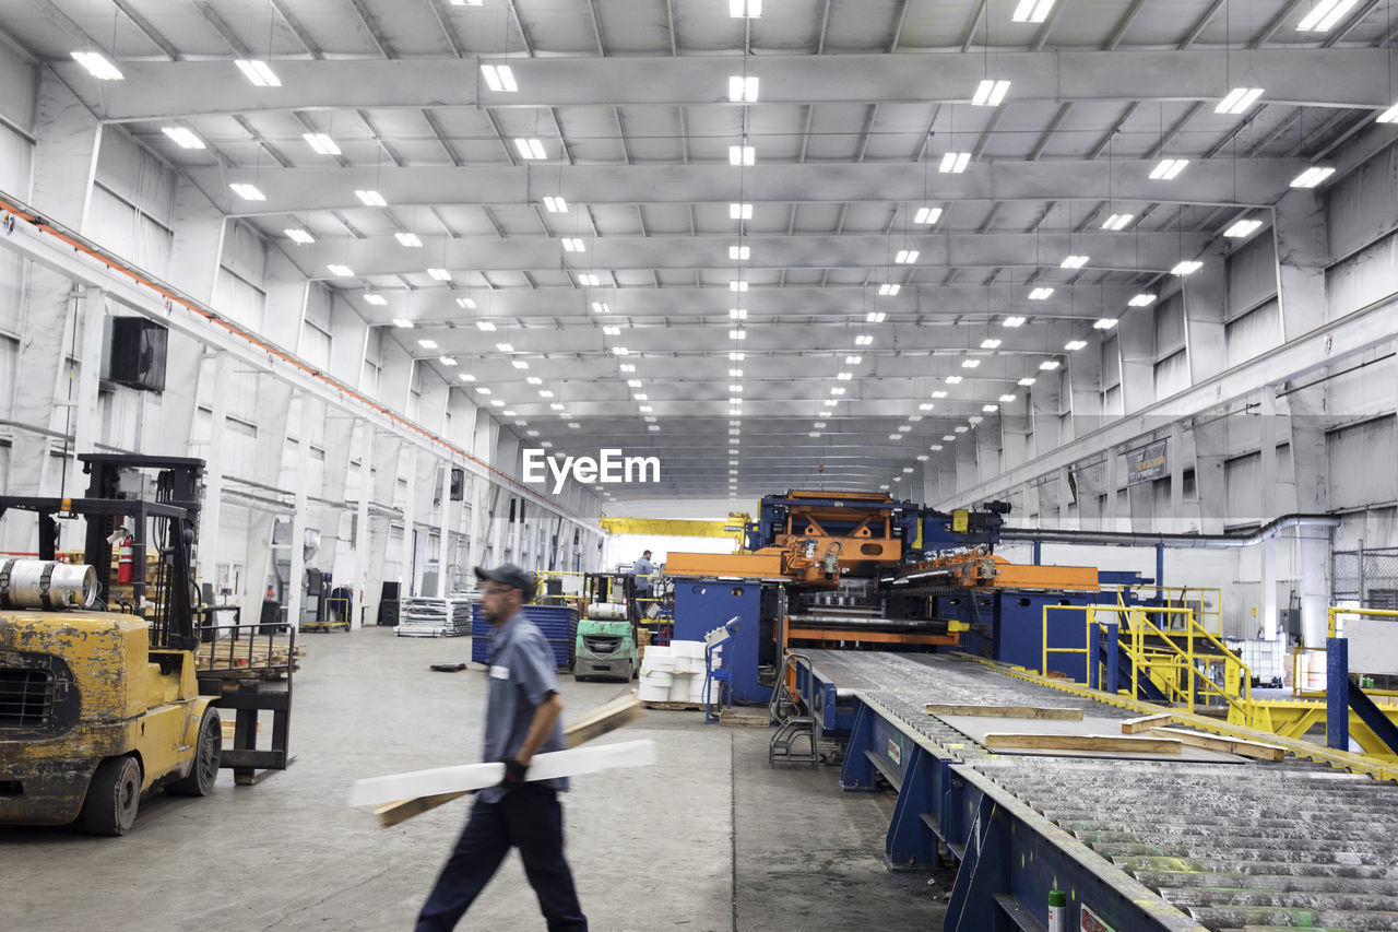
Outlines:
[[[389,830],[344,805],[361,777],[478,760],[485,682],[468,640],[389,628],[303,635],[292,767],[212,796],[147,796],[124,838],[0,828],[0,929],[410,929],[466,817],[454,802]],[[563,677],[565,721],[628,687]],[[264,726],[264,730],[268,726]],[[889,873],[892,793],[842,793],[837,768],[768,768],[766,729],[651,711],[600,740],[653,739],[660,764],[563,798],[591,928],[939,928],[951,872]],[[463,929],[542,929],[517,855]]]

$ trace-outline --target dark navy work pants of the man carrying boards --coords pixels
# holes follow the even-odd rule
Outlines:
[[[417,932],[456,928],[512,845],[520,849],[549,932],[586,932],[587,917],[563,861],[563,807],[555,791],[538,784],[516,786],[495,803],[475,800],[452,856],[418,912]]]

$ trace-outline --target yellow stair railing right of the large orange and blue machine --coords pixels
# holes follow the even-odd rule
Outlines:
[[[1131,694],[1139,696],[1141,677],[1145,676],[1153,683],[1166,698],[1174,704],[1184,704],[1190,712],[1195,709],[1199,698],[1216,697],[1236,709],[1244,722],[1253,718],[1253,676],[1241,658],[1230,651],[1212,631],[1201,626],[1192,609],[1160,607],[1160,606],[1127,606],[1118,593],[1118,605],[1093,606],[1060,606],[1047,605],[1043,609],[1043,661],[1040,675],[1048,675],[1050,654],[1082,654],[1086,656],[1085,675],[1092,680],[1090,656],[1092,626],[1106,626],[1110,621],[1097,619],[1097,613],[1110,614],[1125,627],[1120,634],[1125,634],[1121,641],[1131,662]],[[1050,612],[1082,612],[1083,613],[1083,647],[1060,648],[1048,647],[1048,613]],[[1398,613],[1395,613],[1398,614]],[[1166,616],[1180,619],[1181,628],[1162,627],[1152,616]],[[1169,626],[1169,623],[1166,623]],[[1212,668],[1222,665],[1219,677],[1222,683],[1211,676]],[[1102,683],[1100,665],[1097,683]]]

